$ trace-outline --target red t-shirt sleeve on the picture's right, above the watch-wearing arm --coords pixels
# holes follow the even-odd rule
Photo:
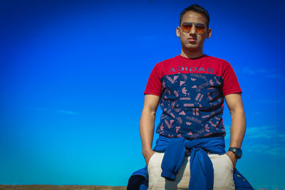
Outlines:
[[[222,87],[223,95],[229,95],[232,93],[242,93],[242,89],[239,86],[239,81],[237,80],[237,75],[234,73],[232,65],[227,61],[223,66],[222,78],[224,84]]]

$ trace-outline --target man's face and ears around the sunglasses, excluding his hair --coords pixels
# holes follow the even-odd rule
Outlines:
[[[195,26],[193,25],[189,33],[183,32],[181,27],[183,23],[203,23],[204,26],[206,26],[206,31],[202,34],[198,34]],[[204,40],[209,38],[211,33],[211,29],[207,28],[206,17],[195,11],[187,11],[182,17],[180,26],[177,26],[176,29],[176,34],[180,37],[182,48],[192,52],[202,51]]]

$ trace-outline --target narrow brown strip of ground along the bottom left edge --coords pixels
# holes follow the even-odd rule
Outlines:
[[[61,190],[126,190],[126,186],[78,186],[78,185],[0,185],[0,189],[8,190],[49,190],[49,189],[61,189]]]

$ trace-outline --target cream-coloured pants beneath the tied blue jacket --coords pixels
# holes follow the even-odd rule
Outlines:
[[[188,189],[190,181],[190,157],[185,157],[175,181],[161,176],[164,153],[155,152],[147,165],[148,189]],[[227,154],[208,154],[214,167],[214,190],[234,190],[234,167]]]

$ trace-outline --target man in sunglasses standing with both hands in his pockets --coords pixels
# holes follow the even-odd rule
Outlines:
[[[197,4],[187,7],[176,33],[181,54],[157,63],[147,81],[140,117],[147,167],[131,176],[128,189],[253,189],[235,169],[246,130],[242,90],[227,61],[203,53],[212,33],[208,12]],[[224,100],[232,117],[226,153]],[[160,137],[152,150],[159,103]]]

